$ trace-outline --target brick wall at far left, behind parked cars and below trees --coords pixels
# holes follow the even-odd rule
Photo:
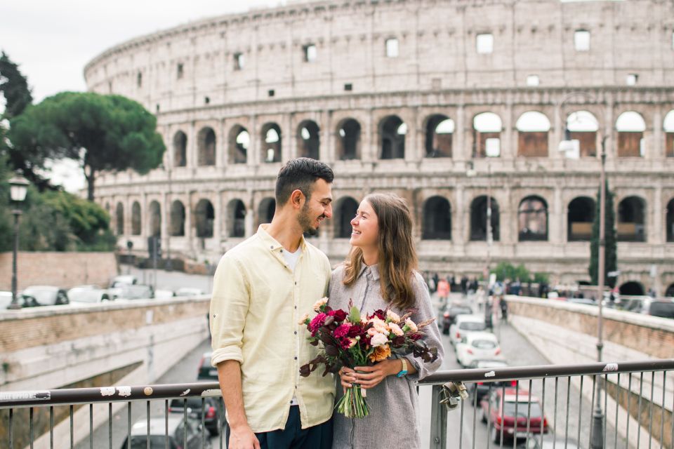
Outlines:
[[[17,257],[18,289],[48,285],[70,288],[95,283],[107,286],[117,275],[114,253],[56,253],[20,251]],[[12,253],[0,253],[0,290],[12,287]]]

